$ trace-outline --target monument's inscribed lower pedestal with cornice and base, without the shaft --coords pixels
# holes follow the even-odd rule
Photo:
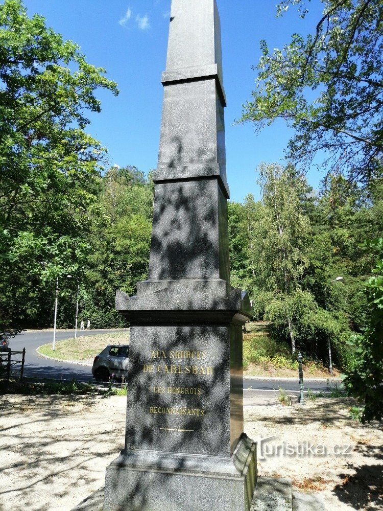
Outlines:
[[[126,448],[106,470],[104,510],[248,511],[256,446],[243,433],[247,293],[217,282],[140,284],[149,292],[116,299],[131,320]]]

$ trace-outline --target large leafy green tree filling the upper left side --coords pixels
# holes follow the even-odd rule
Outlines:
[[[21,0],[0,5],[0,330],[47,313],[55,278],[81,271],[105,154],[84,131],[98,88],[118,92]]]

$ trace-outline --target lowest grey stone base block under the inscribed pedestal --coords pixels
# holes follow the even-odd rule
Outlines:
[[[249,511],[256,467],[245,434],[231,458],[124,449],[106,469],[104,511]]]

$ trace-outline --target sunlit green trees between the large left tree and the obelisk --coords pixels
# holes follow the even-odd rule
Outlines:
[[[104,225],[95,225],[87,257],[87,295],[82,310],[98,327],[125,324],[114,309],[115,291],[132,295],[147,277],[153,217],[153,183],[136,167],[113,167],[102,178],[99,206]]]

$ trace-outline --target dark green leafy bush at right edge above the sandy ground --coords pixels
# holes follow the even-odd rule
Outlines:
[[[383,417],[383,239],[368,242],[376,254],[375,267],[365,284],[369,305],[368,325],[349,344],[355,350],[355,365],[345,371],[344,386],[349,396],[364,404],[363,423]]]

